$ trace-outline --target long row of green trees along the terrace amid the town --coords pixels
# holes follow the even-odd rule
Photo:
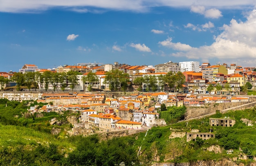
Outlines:
[[[24,74],[14,73],[11,80],[1,76],[0,84],[1,87],[4,87],[5,83],[15,81],[16,89],[18,91],[21,90],[22,86],[27,86],[27,89],[29,90],[31,90],[31,88],[36,90],[40,85],[44,85],[43,87],[46,91],[48,90],[49,85],[52,85],[54,91],[58,88],[64,91],[67,86],[73,90],[74,86],[78,83],[78,74],[81,73],[74,71],[61,73],[45,71],[43,74],[40,72],[26,72]],[[91,91],[93,84],[98,83],[99,79],[95,73],[89,72],[87,76],[83,76],[82,81],[83,83],[88,84],[88,90]],[[164,91],[166,85],[168,85],[170,90],[180,90],[185,83],[185,76],[182,72],[177,72],[176,74],[168,72],[165,75],[161,74],[159,76],[146,74],[137,77],[131,83],[129,74],[120,70],[110,70],[105,73],[105,80],[103,83],[109,85],[110,91],[126,91],[128,85],[132,84],[139,86],[137,89],[138,91],[142,90],[142,85],[145,86],[147,92],[157,91],[158,86]]]

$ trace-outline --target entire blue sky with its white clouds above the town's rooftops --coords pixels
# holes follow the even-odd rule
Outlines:
[[[255,0],[1,0],[0,72],[24,64],[256,66]]]

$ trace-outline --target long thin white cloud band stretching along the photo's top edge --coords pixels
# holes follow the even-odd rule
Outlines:
[[[104,10],[146,12],[151,7],[191,7],[191,0],[1,0],[0,12],[38,12],[53,8],[77,12],[102,12]],[[252,7],[255,0],[204,0],[196,2],[191,11],[201,13],[203,6],[211,8],[241,9]]]

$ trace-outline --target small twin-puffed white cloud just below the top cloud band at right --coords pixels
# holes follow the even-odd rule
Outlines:
[[[221,11],[218,10],[218,9],[215,9],[215,8],[205,10],[204,6],[194,6],[194,5],[192,5],[190,7],[190,11],[194,12],[194,13],[202,14],[206,18],[220,18],[220,17],[222,17]]]

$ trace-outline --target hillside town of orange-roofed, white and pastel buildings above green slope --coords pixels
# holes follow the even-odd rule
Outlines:
[[[108,73],[118,70],[126,74],[127,86],[124,92],[118,95],[110,94],[110,83],[105,81]],[[18,74],[26,76],[39,73],[43,79],[35,81],[37,87],[23,84],[17,89],[18,79],[16,72],[1,72],[0,98],[9,101],[37,101],[48,103],[42,108],[35,105],[29,112],[65,112],[70,110],[79,114],[70,119],[74,126],[73,135],[90,135],[97,131],[112,131],[123,129],[146,129],[152,126],[166,125],[164,119],[159,119],[158,111],[164,107],[193,106],[204,107],[206,104],[249,102],[248,96],[243,96],[248,90],[247,83],[252,87],[256,85],[256,72],[254,67],[243,68],[231,64],[210,65],[209,63],[171,61],[153,66],[130,66],[117,62],[99,66],[95,63],[64,65],[56,69],[39,69],[36,65],[25,64]],[[66,87],[62,89],[62,82],[45,81],[48,73],[75,72],[75,83],[65,79]],[[90,74],[95,74],[93,81],[85,79]],[[181,73],[177,80],[181,85],[174,83],[173,88],[168,80],[162,83],[162,76]],[[27,75],[26,75],[27,74]],[[50,75],[48,75],[50,77]],[[155,78],[154,85],[144,79],[140,84],[138,78]],[[171,77],[169,77],[171,78]],[[174,78],[174,77],[173,77]],[[48,78],[49,79],[49,78]],[[35,79],[36,80],[36,79]],[[175,80],[175,81],[177,81]],[[70,82],[69,82],[70,81]],[[166,83],[167,82],[167,83]],[[91,87],[90,87],[91,86]],[[150,87],[151,86],[151,87]],[[178,87],[180,86],[180,87]],[[47,88],[46,88],[47,87]],[[121,91],[121,83],[117,91]],[[153,88],[155,87],[155,88]],[[38,89],[37,89],[38,88]],[[90,91],[90,92],[88,92]],[[125,93],[127,94],[125,95]],[[51,124],[57,123],[54,119]]]

